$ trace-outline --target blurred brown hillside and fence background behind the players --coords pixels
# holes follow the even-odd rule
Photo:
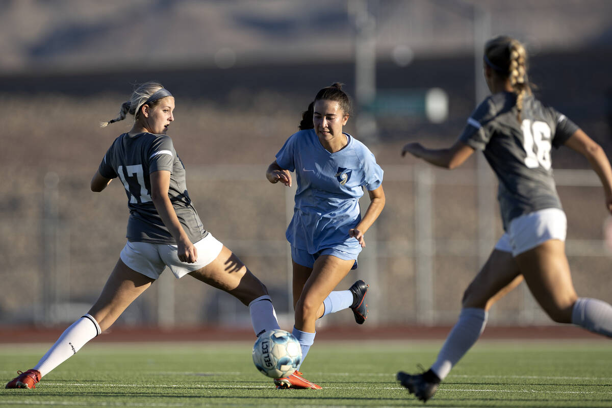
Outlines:
[[[612,151],[606,0],[1,4],[0,325],[73,321],[102,289],[124,245],[127,210],[121,184],[96,195],[89,180],[129,124],[97,123],[114,117],[132,83],[159,80],[176,95],[170,134],[196,209],[269,287],[283,326],[291,320],[284,232],[293,190],[270,185],[264,171],[320,87],[346,83],[358,108],[348,131],[385,171],[387,207],[343,283],[370,283],[372,325],[454,321],[463,287],[501,234],[482,159],[448,172],[399,155],[407,140],[447,144],[458,135],[486,94],[484,39],[526,42],[540,97]],[[447,95],[437,123],[425,111],[431,89]],[[599,181],[567,149],[553,162],[575,286],[612,302],[602,284],[610,252]],[[324,324],[351,318],[338,315]],[[490,321],[549,322],[524,284]],[[119,322],[248,325],[248,313],[229,295],[166,273]]]

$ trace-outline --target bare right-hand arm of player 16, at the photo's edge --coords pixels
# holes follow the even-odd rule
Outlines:
[[[565,146],[577,151],[589,160],[591,167],[602,181],[606,209],[612,213],[612,169],[602,147],[581,129],[578,129],[565,141]]]

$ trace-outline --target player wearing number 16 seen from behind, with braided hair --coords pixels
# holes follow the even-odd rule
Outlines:
[[[605,209],[612,212],[612,170],[603,149],[577,125],[531,94],[524,46],[509,37],[485,45],[484,75],[491,96],[476,108],[458,140],[447,149],[409,143],[410,153],[444,168],[455,168],[482,150],[499,180],[504,224],[488,261],[463,294],[457,324],[431,368],[422,374],[400,371],[397,379],[427,401],[441,380],[476,343],[496,300],[523,279],[555,322],[575,324],[612,336],[612,306],[578,297],[565,256],[567,220],[551,169],[551,147],[567,146],[584,155],[603,184]]]

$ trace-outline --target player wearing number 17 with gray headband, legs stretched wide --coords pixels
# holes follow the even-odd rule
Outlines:
[[[6,388],[34,388],[40,378],[102,333],[169,267],[176,278],[191,275],[234,295],[251,314],[256,335],[278,328],[266,286],[207,232],[185,186],[185,168],[172,139],[174,97],[162,85],[142,84],[119,117],[134,115],[130,132],[115,139],[91,180],[102,191],[119,177],[130,209],[127,243],[102,294],[83,317],[67,328],[34,368]]]

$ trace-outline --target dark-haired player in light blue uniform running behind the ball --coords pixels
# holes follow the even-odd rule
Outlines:
[[[368,148],[342,132],[351,101],[341,84],[316,94],[294,133],[276,154],[266,177],[271,183],[297,182],[294,214],[286,231],[293,259],[293,334],[302,346],[302,362],[315,339],[315,321],[351,308],[358,324],[367,317],[368,285],[359,280],[348,291],[334,291],[365,247],[364,234],[383,210],[383,170]],[[370,205],[363,218],[364,188]],[[321,388],[299,371],[275,380],[278,388]]]

